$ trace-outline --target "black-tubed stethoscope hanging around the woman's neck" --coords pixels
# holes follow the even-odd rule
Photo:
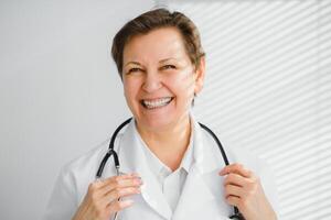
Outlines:
[[[99,168],[96,173],[96,179],[99,179],[103,175],[103,172],[104,172],[104,168],[105,168],[105,165],[108,161],[108,158],[113,155],[113,158],[114,158],[114,164],[115,164],[115,168],[116,168],[116,175],[120,175],[120,172],[119,172],[119,168],[120,168],[120,165],[119,165],[119,161],[118,161],[118,155],[116,153],[116,151],[114,150],[114,143],[115,143],[115,139],[118,134],[118,132],[126,125],[128,124],[130,121],[131,121],[132,118],[129,118],[127,119],[125,122],[122,122],[116,130],[115,132],[113,133],[111,135],[111,139],[110,139],[110,143],[109,143],[109,147],[108,147],[108,151],[106,153],[106,155],[104,156],[100,165],[99,165]],[[223,161],[225,163],[225,165],[227,166],[229,163],[228,163],[228,160],[227,160],[227,156],[225,154],[225,151],[221,144],[221,141],[217,139],[216,134],[211,130],[209,129],[206,125],[202,124],[199,122],[199,124],[201,125],[202,129],[204,129],[205,131],[209,132],[209,134],[211,134],[214,139],[214,141],[217,143],[217,146],[222,153],[222,157],[223,157]],[[115,218],[116,219],[116,216],[117,216],[117,212],[115,213]],[[243,215],[239,212],[238,208],[237,207],[234,207],[234,213],[231,215],[228,218],[231,219],[237,219],[237,220],[245,220],[245,218],[243,217]]]

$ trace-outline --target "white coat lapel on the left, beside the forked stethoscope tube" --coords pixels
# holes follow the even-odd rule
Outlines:
[[[146,162],[141,140],[132,120],[120,140],[118,153],[122,173],[138,173],[142,178],[141,196],[148,206],[162,216],[171,219],[172,210],[166,201],[158,180]]]

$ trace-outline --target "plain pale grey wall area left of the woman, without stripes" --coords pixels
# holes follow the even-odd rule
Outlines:
[[[0,219],[40,219],[60,167],[129,116],[110,43],[152,6],[0,1]]]

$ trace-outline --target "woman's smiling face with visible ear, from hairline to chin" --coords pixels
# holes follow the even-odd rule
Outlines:
[[[196,69],[175,28],[132,37],[125,46],[124,91],[138,128],[161,131],[188,121],[203,86],[204,59]]]

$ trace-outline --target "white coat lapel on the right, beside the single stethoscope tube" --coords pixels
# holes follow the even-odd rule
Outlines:
[[[224,161],[215,142],[196,122],[194,132],[194,164],[172,219],[227,219],[231,207],[224,201],[223,177],[218,176]]]

